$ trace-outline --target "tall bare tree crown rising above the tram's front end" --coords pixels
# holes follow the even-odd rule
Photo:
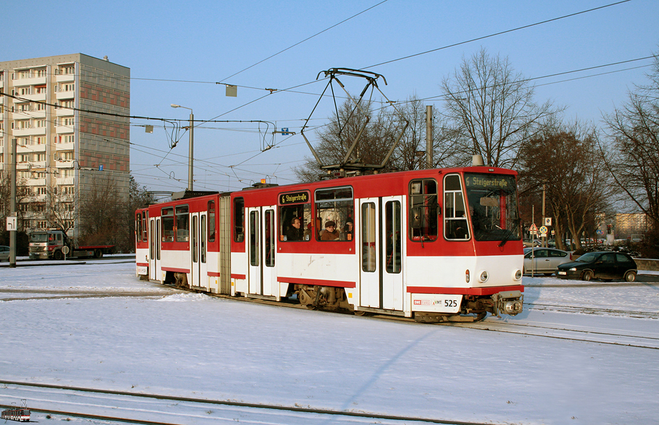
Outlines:
[[[490,166],[513,168],[519,150],[557,112],[549,101],[533,100],[533,85],[513,71],[508,58],[491,56],[484,48],[463,58],[442,89],[463,160],[480,154]]]

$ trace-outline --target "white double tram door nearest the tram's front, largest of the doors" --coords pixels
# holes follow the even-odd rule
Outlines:
[[[402,196],[359,202],[360,306],[403,309]]]

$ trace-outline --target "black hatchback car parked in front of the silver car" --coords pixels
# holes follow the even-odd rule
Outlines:
[[[571,263],[558,266],[556,275],[561,279],[636,279],[636,262],[622,252],[587,252]]]

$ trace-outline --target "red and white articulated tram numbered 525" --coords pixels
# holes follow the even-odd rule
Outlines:
[[[136,212],[137,275],[420,322],[522,311],[515,171],[405,171],[255,185]],[[332,229],[332,224],[334,228]]]

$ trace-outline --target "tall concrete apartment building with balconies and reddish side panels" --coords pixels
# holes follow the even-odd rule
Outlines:
[[[16,139],[22,229],[78,236],[86,193],[110,180],[128,196],[129,68],[81,53],[11,60],[0,62],[0,91],[0,172]]]

